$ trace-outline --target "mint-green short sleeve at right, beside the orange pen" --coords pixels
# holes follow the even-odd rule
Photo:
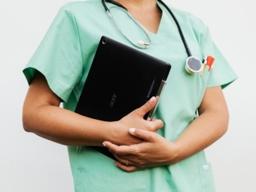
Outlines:
[[[220,85],[222,89],[224,89],[224,87],[227,87],[236,80],[236,72],[233,71],[232,67],[227,62],[227,59],[224,58],[221,51],[212,41],[207,26],[205,26],[201,49],[203,56],[213,56],[215,58],[212,70],[209,73],[209,79],[206,87],[215,87]],[[208,70],[208,68],[206,68],[206,70]]]

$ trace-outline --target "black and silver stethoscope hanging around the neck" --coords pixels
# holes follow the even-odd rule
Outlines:
[[[106,2],[110,2],[114,5],[117,5],[119,8],[123,8],[126,13],[131,17],[131,19],[142,29],[142,31],[145,33],[145,35],[147,36],[148,38],[148,43],[145,43],[144,41],[138,41],[138,43],[134,43],[132,40],[130,40],[130,38],[120,29],[119,26],[117,26],[117,23],[114,21],[114,18],[112,17],[108,7],[105,5],[105,1]],[[123,7],[123,5],[120,5],[120,3],[118,2],[114,2],[113,0],[102,0],[102,5],[104,6],[105,8],[105,11],[107,11],[108,13],[108,16],[111,18],[112,22],[114,23],[114,26],[117,27],[117,29],[128,39],[128,41],[130,41],[133,46],[139,48],[139,49],[147,49],[150,45],[151,45],[151,38],[149,37],[148,33],[145,31],[144,29],[144,26],[142,26],[141,23],[139,23],[138,21],[136,21],[133,16],[128,12],[128,10]],[[181,40],[184,44],[184,47],[186,49],[186,52],[187,52],[187,60],[186,60],[186,66],[185,66],[185,69],[186,71],[189,73],[189,74],[194,74],[194,73],[197,73],[197,72],[201,72],[202,71],[202,68],[203,68],[203,63],[201,62],[200,59],[198,59],[196,56],[192,56],[192,54],[190,53],[190,49],[188,48],[187,46],[187,41],[185,40],[184,38],[184,35],[183,35],[183,32],[181,31],[181,27],[179,26],[178,24],[178,21],[176,20],[174,14],[172,14],[172,11],[167,7],[167,5],[162,2],[161,0],[157,0],[158,2],[160,2],[165,8],[167,11],[169,11],[169,14],[171,14],[172,16],[172,19],[175,21],[175,24],[176,26],[178,27],[178,32],[179,32],[179,35],[181,36]]]

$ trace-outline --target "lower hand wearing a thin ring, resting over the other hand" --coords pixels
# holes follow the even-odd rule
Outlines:
[[[146,130],[131,128],[129,133],[143,139],[144,142],[130,146],[103,142],[103,145],[117,158],[118,161],[114,164],[120,169],[133,172],[137,169],[175,163],[177,154],[173,142]]]

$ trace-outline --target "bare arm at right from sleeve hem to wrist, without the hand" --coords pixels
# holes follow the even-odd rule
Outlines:
[[[209,87],[198,108],[199,117],[175,140],[175,162],[197,154],[227,131],[229,114],[221,87]]]

